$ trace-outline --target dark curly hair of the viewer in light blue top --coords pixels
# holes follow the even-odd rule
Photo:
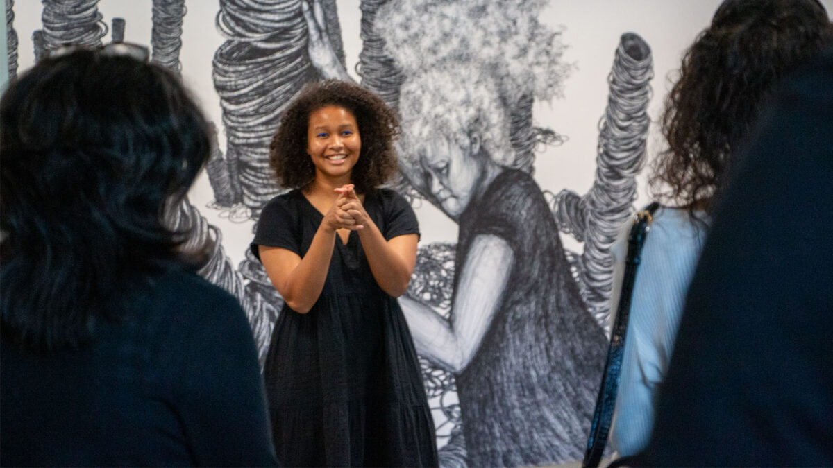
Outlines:
[[[817,0],[726,0],[682,59],[666,97],[661,129],[668,147],[651,187],[673,205],[706,211],[775,83],[829,39]]]

